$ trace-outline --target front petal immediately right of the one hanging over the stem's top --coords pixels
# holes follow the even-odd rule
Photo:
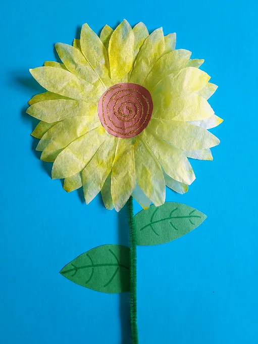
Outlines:
[[[156,207],[161,206],[165,202],[166,185],[159,161],[140,138],[134,154],[137,184]]]

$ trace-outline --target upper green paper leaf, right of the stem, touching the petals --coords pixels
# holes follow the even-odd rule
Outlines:
[[[150,206],[135,215],[137,245],[157,245],[190,232],[207,216],[181,203],[166,202],[160,207]]]

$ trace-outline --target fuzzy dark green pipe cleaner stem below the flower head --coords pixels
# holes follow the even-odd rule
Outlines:
[[[130,196],[128,201],[128,221],[130,231],[130,318],[132,331],[132,344],[138,344],[137,328],[137,252],[135,241],[135,224],[133,218],[133,198]]]

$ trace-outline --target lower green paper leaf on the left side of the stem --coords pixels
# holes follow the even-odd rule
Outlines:
[[[60,273],[89,289],[107,293],[129,291],[129,253],[129,248],[122,245],[102,245],[75,258]]]

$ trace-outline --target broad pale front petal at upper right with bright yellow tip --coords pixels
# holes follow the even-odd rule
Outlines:
[[[210,78],[207,73],[193,67],[168,75],[151,91],[154,107],[169,107],[175,98],[198,92]]]

